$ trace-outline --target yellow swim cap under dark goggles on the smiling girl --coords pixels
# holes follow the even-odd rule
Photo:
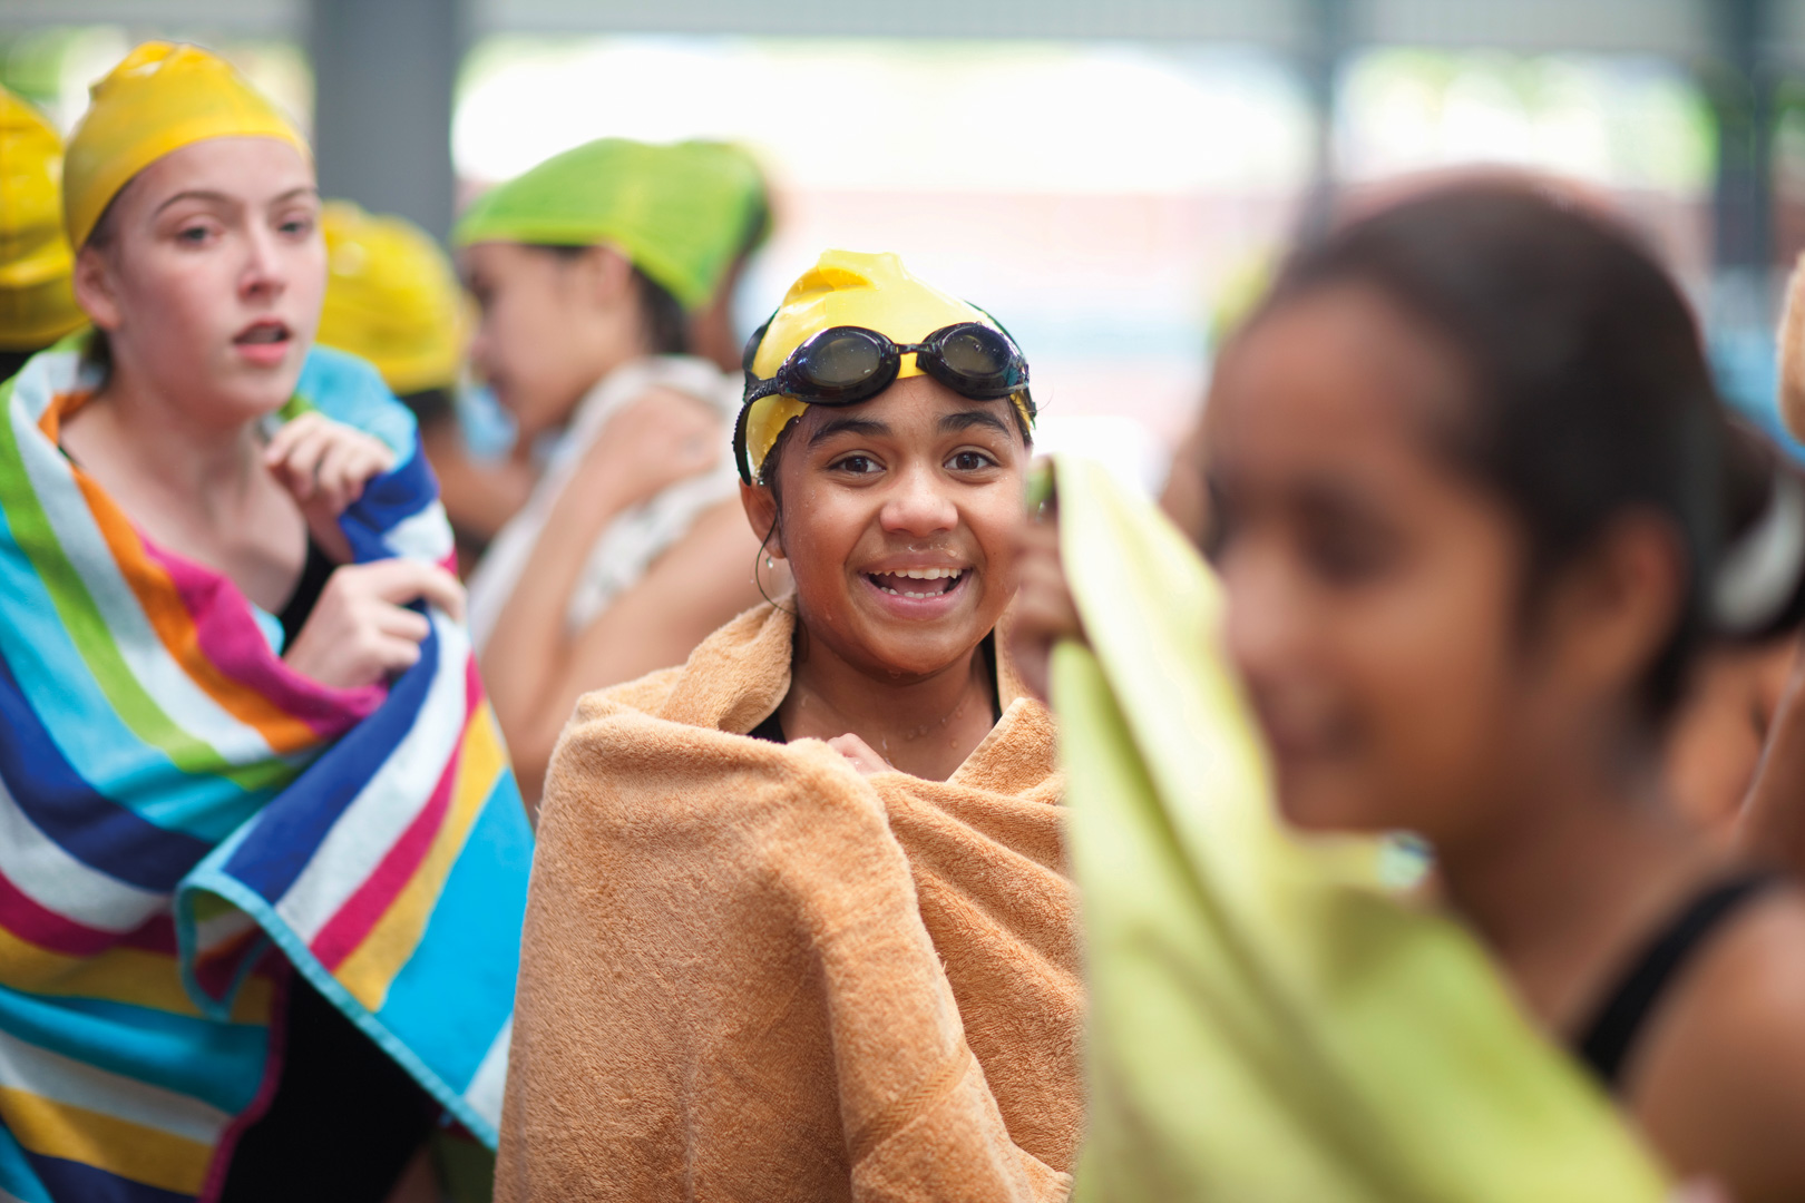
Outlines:
[[[996,321],[975,305],[940,292],[908,272],[895,254],[865,254],[861,251],[823,251],[814,267],[805,271],[783,294],[783,303],[771,316],[749,370],[769,381],[798,346],[821,330],[834,326],[863,326],[883,334],[892,343],[921,343],[940,326],[975,321],[1000,328]],[[897,379],[922,375],[915,355],[902,355]],[[1027,391],[1011,397],[1022,413],[1022,422],[1032,427],[1034,409]],[[740,474],[758,480],[765,456],[776,445],[783,427],[800,418],[809,402],[796,397],[762,397],[740,415],[745,431],[745,462]]]

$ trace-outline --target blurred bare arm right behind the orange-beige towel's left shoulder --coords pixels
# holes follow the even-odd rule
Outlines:
[[[551,631],[558,637],[556,651],[547,666],[551,671],[540,676],[538,694],[522,698],[523,705],[511,718],[496,703],[514,776],[527,797],[540,792],[552,745],[583,693],[682,664],[718,626],[758,602],[753,583],[758,546],[738,498],[729,498],[704,512],[634,588],[576,638],[563,637],[560,604]],[[509,669],[496,655],[500,631],[496,626],[484,657],[486,676]]]

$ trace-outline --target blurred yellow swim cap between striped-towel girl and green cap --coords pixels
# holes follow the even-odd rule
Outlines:
[[[451,260],[399,216],[370,216],[348,200],[319,215],[327,240],[321,346],[375,364],[397,395],[457,384],[466,310]]]

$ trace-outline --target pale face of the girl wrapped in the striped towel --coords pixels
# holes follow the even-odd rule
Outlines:
[[[312,164],[287,142],[209,139],[144,168],[76,269],[116,372],[220,424],[282,408],[319,326],[318,218]]]

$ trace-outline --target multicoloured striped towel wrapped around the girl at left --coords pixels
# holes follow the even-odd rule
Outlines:
[[[287,965],[493,1145],[532,837],[469,635],[431,611],[386,687],[289,671],[60,453],[76,346],[0,384],[0,1199],[217,1194]],[[446,563],[375,372],[316,350],[280,417],[309,406],[401,460],[356,557]]]

